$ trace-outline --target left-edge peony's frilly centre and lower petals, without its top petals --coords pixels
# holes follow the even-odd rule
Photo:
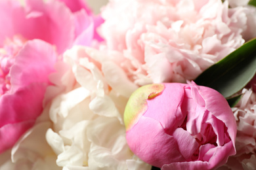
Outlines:
[[[0,153],[13,146],[41,114],[48,76],[57,59],[53,46],[41,40],[26,42],[15,59],[13,46],[1,48],[0,53]]]

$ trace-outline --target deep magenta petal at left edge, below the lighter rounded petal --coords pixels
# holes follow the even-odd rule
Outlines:
[[[0,127],[26,120],[35,120],[43,110],[47,86],[31,84],[0,97]]]

